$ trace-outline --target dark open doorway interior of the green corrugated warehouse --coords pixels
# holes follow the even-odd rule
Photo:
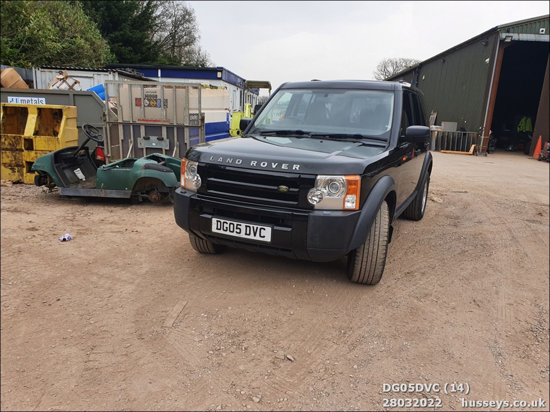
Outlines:
[[[505,47],[491,124],[497,148],[529,154],[547,60],[548,42]]]

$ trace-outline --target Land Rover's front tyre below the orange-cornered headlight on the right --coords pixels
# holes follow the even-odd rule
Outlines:
[[[386,266],[388,253],[389,210],[387,202],[380,206],[364,244],[348,254],[349,280],[365,285],[376,285]]]

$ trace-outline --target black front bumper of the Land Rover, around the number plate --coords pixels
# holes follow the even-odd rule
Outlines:
[[[174,193],[175,222],[186,232],[215,244],[314,262],[345,256],[360,211],[308,211],[250,205],[178,188]],[[271,242],[234,238],[211,230],[212,217],[272,227]]]

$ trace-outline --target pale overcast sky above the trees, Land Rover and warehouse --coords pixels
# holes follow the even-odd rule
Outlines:
[[[372,79],[379,60],[424,60],[549,1],[190,1],[201,45],[247,80]]]

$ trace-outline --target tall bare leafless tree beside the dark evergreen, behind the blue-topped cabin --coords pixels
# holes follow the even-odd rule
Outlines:
[[[199,24],[191,5],[175,0],[158,2],[158,25],[153,39],[168,63],[212,65],[210,55],[200,47]]]

